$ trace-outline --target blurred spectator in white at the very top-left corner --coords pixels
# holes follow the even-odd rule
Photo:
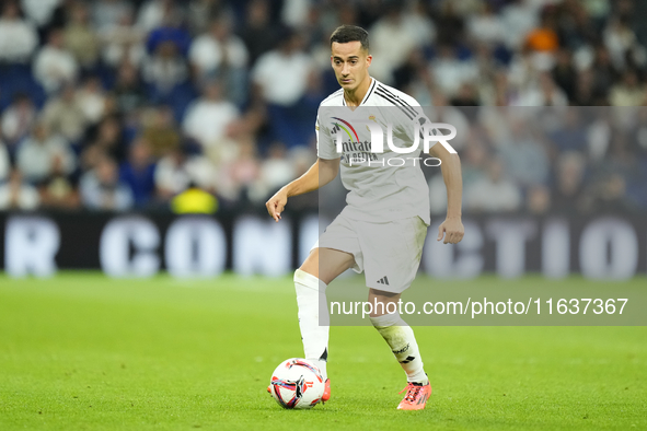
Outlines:
[[[37,45],[34,26],[20,16],[15,1],[7,1],[0,16],[0,61],[27,62]]]

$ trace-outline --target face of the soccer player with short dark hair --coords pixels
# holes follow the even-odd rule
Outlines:
[[[359,40],[339,44],[333,42],[331,61],[337,82],[344,90],[353,91],[369,75],[372,56],[361,48]]]

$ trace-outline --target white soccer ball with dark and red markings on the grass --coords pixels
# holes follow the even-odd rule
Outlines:
[[[307,409],[321,401],[325,382],[311,361],[291,358],[274,370],[269,388],[271,396],[281,407]]]

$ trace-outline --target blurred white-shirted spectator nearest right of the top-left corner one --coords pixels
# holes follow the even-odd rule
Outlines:
[[[34,60],[34,77],[43,85],[47,93],[54,93],[63,84],[77,79],[79,65],[65,48],[65,37],[61,30],[49,32],[47,45],[45,45]]]

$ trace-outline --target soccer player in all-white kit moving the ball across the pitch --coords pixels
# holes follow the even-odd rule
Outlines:
[[[401,293],[415,278],[429,225],[429,190],[419,162],[415,165],[414,160],[420,149],[400,154],[384,145],[382,153],[369,152],[367,144],[361,143],[367,137],[370,139],[369,127],[353,127],[353,121],[357,119],[354,114],[365,109],[361,118],[382,125],[391,123],[393,144],[407,148],[413,147],[415,140],[414,123],[424,125],[428,119],[413,97],[370,77],[372,57],[368,33],[363,28],[353,25],[336,28],[331,36],[331,54],[332,67],[342,89],[321,103],[315,127],[317,161],[305,174],[274,195],[266,203],[267,211],[278,222],[290,197],[326,185],[337,176],[340,166],[342,182],[349,190],[347,206],[294,272],[305,359],[321,370],[326,382],[322,400],[328,400],[330,326],[320,325],[320,303],[324,304],[321,310],[326,313],[323,322],[327,322],[327,284],[348,268],[357,272],[363,270],[369,302],[385,305],[374,307],[370,314],[371,323],[389,343],[407,376],[406,396],[397,408],[423,409],[431,395],[431,386],[416,338],[397,312],[386,312],[388,304],[397,303]],[[339,133],[344,125],[353,133],[347,133],[350,140],[344,142],[343,151],[338,153],[336,139],[342,138]],[[449,144],[441,143],[436,142],[429,151],[440,160],[448,191],[447,218],[438,229],[437,240],[457,244],[464,232],[460,161]],[[411,158],[408,166],[390,165],[390,159],[400,155]]]

